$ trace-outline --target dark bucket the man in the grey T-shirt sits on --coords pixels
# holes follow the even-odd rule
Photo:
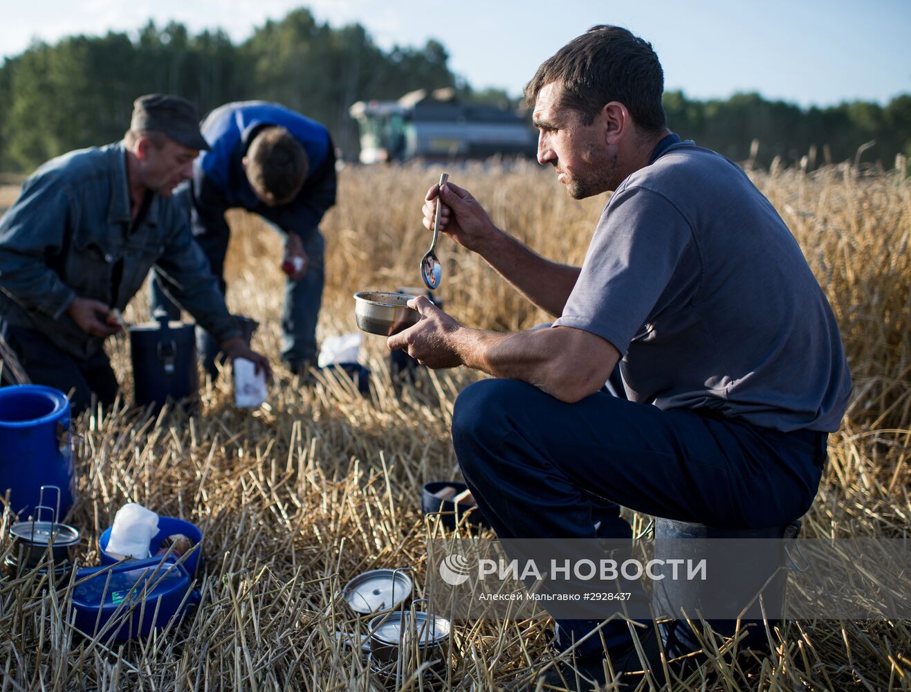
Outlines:
[[[681,616],[681,609],[698,622],[698,613],[706,607],[714,612],[744,613],[740,629],[747,632],[741,649],[767,649],[768,641],[763,625],[763,610],[767,614],[780,614],[787,587],[785,541],[799,532],[800,522],[770,529],[720,529],[702,524],[674,522],[655,518],[655,559],[708,560],[707,578],[701,580],[656,580],[652,603],[657,615]],[[755,540],[752,540],[755,539]],[[737,554],[722,547],[725,541],[736,540]],[[730,559],[719,560],[723,555]],[[665,567],[664,570],[670,569]],[[670,576],[667,574],[666,576]],[[764,585],[764,588],[763,588]],[[762,605],[757,594],[762,594]],[[770,621],[777,618],[769,616]],[[721,635],[732,636],[737,621],[707,619],[711,628]],[[668,656],[684,656],[701,649],[699,638],[685,619],[672,620],[659,625]]]

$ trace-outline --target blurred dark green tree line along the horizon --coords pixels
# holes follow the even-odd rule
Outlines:
[[[0,171],[28,172],[67,150],[119,139],[133,99],[157,91],[193,100],[200,114],[232,100],[277,101],[325,124],[350,160],[358,142],[348,108],[356,100],[452,87],[463,100],[520,107],[502,91],[476,92],[447,61],[435,40],[385,51],[363,26],[321,24],[306,8],[266,22],[239,44],[221,31],[192,35],[179,23],[151,22],[136,36],[36,43],[0,65]],[[793,164],[806,156],[811,167],[853,160],[869,142],[875,144],[863,151],[865,162],[891,167],[898,153],[911,158],[909,95],[885,107],[802,109],[758,94],[697,101],[671,91],[664,106],[670,128],[685,139],[759,166],[775,157]]]

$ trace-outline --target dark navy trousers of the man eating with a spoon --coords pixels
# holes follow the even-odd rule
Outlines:
[[[662,411],[604,391],[566,404],[508,379],[467,387],[452,432],[466,483],[500,539],[628,539],[619,505],[710,526],[781,526],[809,509],[827,437]],[[558,646],[596,624],[558,621]],[[610,650],[630,645],[624,622],[601,635]],[[577,648],[601,654],[598,637]]]

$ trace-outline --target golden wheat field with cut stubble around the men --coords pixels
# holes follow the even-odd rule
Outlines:
[[[606,198],[572,201],[532,164],[450,169],[494,222],[548,257],[580,263]],[[429,244],[420,223],[437,168],[349,168],[323,223],[326,288],[319,336],[356,331],[352,294],[420,283]],[[842,328],[854,377],[843,428],[804,535],[903,537],[911,514],[911,182],[846,166],[813,173],[752,171],[804,249]],[[8,197],[8,195],[7,195]],[[8,202],[8,200],[7,200]],[[425,543],[445,533],[420,511],[429,480],[457,478],[449,437],[464,368],[424,371],[397,396],[384,339],[365,335],[369,398],[347,381],[303,386],[278,362],[281,243],[255,217],[231,212],[228,302],[261,322],[253,346],[275,367],[268,403],[233,408],[227,373],[201,387],[202,412],[144,418],[126,406],[75,423],[79,501],[67,522],[82,532],[78,559],[99,563],[97,535],[127,501],[180,516],[204,532],[201,602],[168,631],[122,646],[70,625],[72,583],[47,588],[36,573],[0,579],[0,689],[378,689],[336,631],[364,631],[339,596],[355,574],[412,566],[425,578]],[[447,312],[468,325],[527,328],[545,315],[476,257],[444,239]],[[148,319],[148,296],[125,313]],[[126,392],[128,344],[109,353]],[[642,518],[638,518],[642,521]],[[0,559],[11,550],[3,517]],[[908,621],[802,621],[772,628],[773,654],[742,670],[721,640],[691,677],[642,679],[640,689],[869,692],[911,690]],[[541,666],[547,624],[455,626],[447,689],[495,689]],[[422,687],[423,686],[423,687]],[[414,668],[402,689],[426,688]]]

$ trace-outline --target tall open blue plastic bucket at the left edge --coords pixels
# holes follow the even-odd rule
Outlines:
[[[41,486],[60,489],[55,521],[62,522],[76,490],[69,399],[43,385],[0,387],[0,496],[9,491],[10,509],[25,517],[39,503]]]

